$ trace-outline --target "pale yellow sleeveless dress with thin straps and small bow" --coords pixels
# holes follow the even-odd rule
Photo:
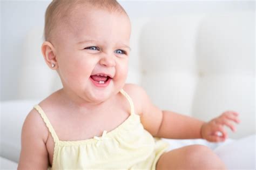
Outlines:
[[[132,99],[124,90],[120,92],[130,103],[129,117],[114,130],[104,131],[102,137],[86,140],[59,140],[42,108],[34,106],[55,142],[49,169],[156,169],[168,144],[143,128],[139,115],[134,113]]]

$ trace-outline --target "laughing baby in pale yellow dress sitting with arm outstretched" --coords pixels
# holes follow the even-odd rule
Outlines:
[[[225,169],[206,146],[167,152],[160,138],[224,141],[238,113],[206,123],[125,84],[131,24],[117,1],[53,0],[44,31],[42,53],[63,88],[26,117],[18,169]]]

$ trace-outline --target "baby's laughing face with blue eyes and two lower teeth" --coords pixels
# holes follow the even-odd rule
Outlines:
[[[130,21],[123,13],[79,7],[56,42],[64,90],[99,103],[125,84],[130,52]]]

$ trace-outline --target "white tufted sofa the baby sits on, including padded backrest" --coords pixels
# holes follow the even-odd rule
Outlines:
[[[226,110],[240,113],[237,133],[224,144],[168,140],[170,148],[211,147],[229,169],[255,169],[254,13],[131,18],[127,83],[145,88],[164,110],[210,120]],[[1,103],[1,169],[15,169],[21,127],[32,106],[57,90],[60,81],[41,55],[42,29],[25,39],[19,98]],[[24,100],[26,99],[26,100]]]

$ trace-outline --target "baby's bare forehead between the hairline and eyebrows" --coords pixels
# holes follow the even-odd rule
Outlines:
[[[64,27],[60,28],[72,40],[81,41],[84,38],[116,38],[129,39],[131,25],[126,14],[106,9],[76,6],[65,17]]]

